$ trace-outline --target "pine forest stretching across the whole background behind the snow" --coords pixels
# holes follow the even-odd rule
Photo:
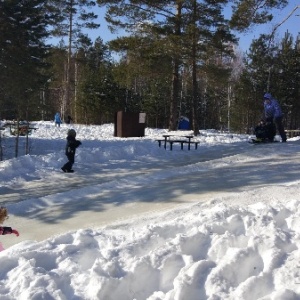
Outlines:
[[[288,2],[0,1],[0,118],[52,120],[60,112],[100,125],[122,110],[145,112],[149,127],[175,130],[186,116],[195,134],[251,133],[268,91],[285,127],[298,129],[299,37],[278,36],[278,24],[242,52],[236,36],[269,24]],[[99,8],[111,32],[123,35],[91,38]]]

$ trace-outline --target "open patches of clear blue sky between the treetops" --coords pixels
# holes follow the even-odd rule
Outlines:
[[[239,34],[240,38],[239,47],[243,51],[247,51],[251,44],[251,41],[255,38],[258,38],[260,34],[269,34],[272,32],[274,26],[281,23],[296,6],[300,6],[300,0],[292,0],[289,1],[287,7],[283,10],[274,10],[274,19],[271,23],[265,25],[254,26],[251,30],[247,31],[247,33]],[[115,39],[117,36],[121,36],[122,32],[120,31],[118,34],[111,34],[109,29],[107,28],[107,24],[104,20],[105,8],[97,8],[96,14],[98,14],[98,22],[101,24],[101,27],[98,30],[93,30],[90,33],[90,37],[96,38],[101,37],[104,42],[107,42],[111,39]],[[293,36],[296,38],[298,33],[300,32],[300,8],[298,8],[293,15],[278,27],[276,34],[278,38],[284,36],[284,33],[288,30]]]

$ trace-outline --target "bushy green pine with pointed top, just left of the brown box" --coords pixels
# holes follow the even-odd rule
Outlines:
[[[110,52],[101,38],[76,54],[78,76],[76,80],[77,118],[86,124],[113,122],[119,109],[119,88],[113,79]]]

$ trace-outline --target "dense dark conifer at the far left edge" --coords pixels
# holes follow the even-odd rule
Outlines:
[[[51,15],[45,0],[0,2],[0,101],[2,117],[26,118],[43,84]]]

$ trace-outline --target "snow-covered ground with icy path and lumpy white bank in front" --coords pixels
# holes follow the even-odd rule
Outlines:
[[[115,138],[36,122],[30,155],[2,131],[2,299],[300,299],[300,141],[250,145],[201,131],[197,150],[159,148],[166,130]]]

